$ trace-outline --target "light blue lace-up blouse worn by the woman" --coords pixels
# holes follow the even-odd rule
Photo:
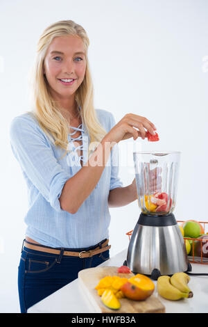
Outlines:
[[[108,132],[115,125],[109,111],[96,109],[96,115]],[[72,127],[71,127],[72,128]],[[72,138],[76,130],[79,138]],[[83,157],[78,157],[73,141],[82,139]],[[28,189],[28,211],[24,217],[26,236],[53,248],[85,248],[109,238],[110,212],[107,205],[109,191],[122,187],[118,177],[119,149],[114,145],[100,180],[76,214],[60,207],[62,188],[70,177],[82,168],[80,160],[88,161],[89,135],[84,124],[68,136],[68,149],[55,147],[42,131],[35,116],[23,113],[10,123],[10,145],[19,162]]]

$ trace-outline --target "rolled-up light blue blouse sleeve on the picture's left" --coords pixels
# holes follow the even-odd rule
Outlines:
[[[55,158],[51,144],[40,126],[27,118],[13,118],[10,124],[10,145],[28,179],[51,207],[63,212],[59,198],[70,176]]]

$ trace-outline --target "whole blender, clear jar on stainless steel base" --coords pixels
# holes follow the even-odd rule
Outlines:
[[[180,152],[134,152],[141,214],[128,246],[126,264],[154,280],[187,271],[187,250],[173,210]]]

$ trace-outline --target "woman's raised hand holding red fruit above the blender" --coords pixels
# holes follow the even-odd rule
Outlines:
[[[135,129],[136,127],[137,129]],[[156,127],[153,122],[150,122],[141,115],[135,115],[134,113],[127,113],[107,134],[107,141],[119,143],[119,141],[126,140],[128,138],[134,138],[137,140],[141,137],[143,140],[146,138],[146,130],[150,134],[155,135]]]

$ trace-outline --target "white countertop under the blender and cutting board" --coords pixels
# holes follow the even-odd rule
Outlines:
[[[100,266],[122,266],[126,259],[127,249],[118,253]],[[191,264],[191,273],[208,273],[208,264]],[[157,281],[154,281],[155,285]],[[159,294],[155,287],[154,295],[166,307],[166,313],[207,313],[208,312],[208,276],[191,276],[189,287],[193,298],[180,301],[168,301]],[[92,307],[83,296],[78,279],[73,280],[44,300],[28,309],[28,313],[94,313]]]

